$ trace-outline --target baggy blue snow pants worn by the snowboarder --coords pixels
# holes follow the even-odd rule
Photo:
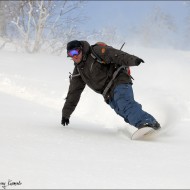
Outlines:
[[[142,110],[142,106],[134,100],[131,84],[120,84],[114,89],[114,96],[109,105],[124,118],[125,122],[137,127],[141,124],[156,122],[155,118]]]

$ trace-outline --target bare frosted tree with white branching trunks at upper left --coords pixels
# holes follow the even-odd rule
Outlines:
[[[20,39],[27,52],[46,49],[61,53],[83,19],[76,10],[83,1],[25,0],[8,1],[9,36]],[[12,31],[12,32],[11,32]]]

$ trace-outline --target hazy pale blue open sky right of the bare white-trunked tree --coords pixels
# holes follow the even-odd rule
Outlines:
[[[88,1],[84,14],[89,17],[89,29],[114,25],[121,30],[131,23],[140,23],[159,6],[173,15],[180,24],[187,14],[184,1]]]

